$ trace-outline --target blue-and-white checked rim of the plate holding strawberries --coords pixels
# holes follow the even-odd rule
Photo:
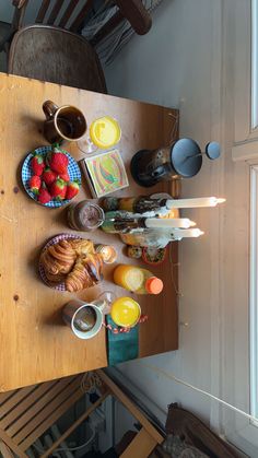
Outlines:
[[[36,202],[38,205],[46,207],[48,209],[58,209],[60,207],[63,207],[63,205],[70,203],[72,199],[70,199],[70,200],[68,200],[68,199],[61,200],[60,202],[56,202],[56,201],[50,200],[50,202],[48,202],[48,203],[40,203],[40,202],[38,202],[35,199],[33,192],[31,192],[26,188],[26,183],[23,179],[24,169],[25,169],[25,167],[28,167],[28,163],[30,163],[31,158],[33,157],[33,153],[38,151],[39,154],[46,154],[50,150],[51,150],[51,145],[44,145],[44,146],[37,146],[37,148],[35,148],[35,150],[33,150],[30,153],[27,153],[26,156],[25,156],[25,158],[24,158],[24,161],[23,161],[23,164],[22,164],[21,179],[22,179],[22,184],[23,184],[23,187],[24,187],[26,193],[31,197],[31,199],[34,200],[34,202]],[[77,166],[77,169],[78,169],[77,172],[78,172],[78,176],[80,177],[80,184],[81,184],[82,183],[82,176],[81,176],[81,171],[80,171],[80,167],[79,167],[77,161],[74,160],[74,157],[72,157],[72,155],[68,151],[66,151],[66,150],[61,150],[61,151],[63,151],[68,155],[69,163],[71,162],[71,163],[73,163],[73,166]],[[81,187],[81,185],[80,185],[80,187]]]

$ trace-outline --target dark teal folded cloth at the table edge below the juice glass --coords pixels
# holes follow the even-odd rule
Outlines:
[[[117,328],[109,315],[106,315],[106,324],[112,328]],[[119,329],[119,328],[118,328]],[[125,361],[134,360],[139,354],[139,327],[131,328],[130,332],[114,333],[107,329],[107,359],[108,365],[124,363]]]

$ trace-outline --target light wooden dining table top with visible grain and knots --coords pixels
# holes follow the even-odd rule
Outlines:
[[[63,305],[73,297],[90,302],[103,292],[117,296],[130,293],[113,283],[113,266],[104,267],[105,280],[80,293],[48,287],[38,273],[43,246],[57,234],[72,233],[94,243],[115,246],[117,263],[137,263],[126,255],[119,236],[97,230],[73,231],[67,223],[67,207],[45,208],[25,192],[21,166],[26,155],[48,144],[43,136],[43,103],[73,105],[87,125],[103,115],[115,117],[121,127],[118,150],[124,158],[129,187],[116,196],[139,196],[166,191],[171,183],[141,188],[130,176],[130,160],[140,149],[167,145],[178,134],[178,111],[162,106],[98,94],[74,87],[0,73],[0,391],[79,374],[108,365],[106,329],[93,339],[78,339],[61,317]],[[83,153],[75,142],[63,148],[79,161]],[[90,199],[82,177],[75,200]],[[164,281],[159,296],[132,295],[149,319],[139,325],[139,357],[178,347],[177,244],[153,273]]]

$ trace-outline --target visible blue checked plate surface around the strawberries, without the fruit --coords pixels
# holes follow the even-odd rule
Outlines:
[[[39,203],[39,205],[48,207],[50,209],[57,209],[58,207],[66,205],[66,203],[69,203],[70,200],[61,200],[61,201],[50,200],[47,203],[40,203],[37,201],[36,196],[31,191],[28,187],[28,181],[34,175],[32,171],[32,166],[31,166],[31,160],[33,158],[33,154],[34,153],[42,154],[45,157],[49,151],[51,151],[50,145],[37,148],[33,152],[28,153],[22,166],[22,183],[26,192],[33,200],[35,200],[35,202]],[[68,173],[70,176],[70,180],[73,181],[74,179],[78,179],[81,183],[81,172],[80,172],[77,161],[67,151],[63,151],[63,152],[69,157]]]

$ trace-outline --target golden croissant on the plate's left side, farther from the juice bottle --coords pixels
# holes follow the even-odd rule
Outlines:
[[[69,240],[60,240],[56,245],[49,246],[40,256],[40,263],[45,272],[50,274],[68,273],[72,269],[77,259],[77,253],[71,247]]]

